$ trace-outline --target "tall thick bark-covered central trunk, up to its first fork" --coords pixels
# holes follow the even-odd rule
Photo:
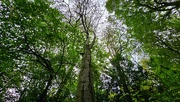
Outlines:
[[[91,69],[91,47],[86,44],[79,74],[76,102],[94,102],[94,88]]]

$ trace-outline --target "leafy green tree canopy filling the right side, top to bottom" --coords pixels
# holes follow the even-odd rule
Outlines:
[[[108,0],[106,7],[109,11],[114,11],[116,16],[128,26],[128,32],[149,54],[151,69],[160,78],[159,83],[164,87],[163,91],[159,91],[164,94],[159,95],[163,98],[157,97],[156,100],[178,101],[178,94],[173,93],[172,89],[179,90],[179,87],[170,83],[179,84],[177,81],[179,74],[173,73],[174,70],[179,72],[180,65],[179,1]],[[169,83],[166,77],[173,80]],[[169,95],[167,90],[171,90],[173,95]]]

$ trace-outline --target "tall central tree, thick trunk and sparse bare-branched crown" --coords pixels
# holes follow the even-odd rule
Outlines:
[[[98,3],[91,0],[79,0],[65,3],[67,6],[67,21],[70,25],[75,23],[79,27],[81,34],[85,39],[84,44],[81,45],[83,51],[82,62],[80,65],[79,81],[77,86],[76,102],[93,102],[94,88],[93,88],[93,69],[92,69],[92,49],[96,42],[97,27],[101,17],[99,14]]]

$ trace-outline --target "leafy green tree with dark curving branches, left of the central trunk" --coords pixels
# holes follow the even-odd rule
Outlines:
[[[65,87],[74,83],[80,57],[76,29],[47,1],[1,1],[1,7],[2,101],[9,100],[11,89],[16,90],[15,100],[24,102],[70,97],[73,92]]]

